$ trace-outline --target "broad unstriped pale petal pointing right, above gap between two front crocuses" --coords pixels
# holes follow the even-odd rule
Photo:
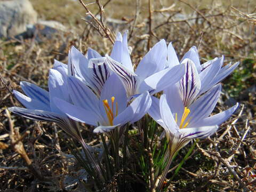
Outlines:
[[[185,65],[177,65],[167,68],[147,77],[140,86],[140,92],[148,91],[149,87],[154,91],[151,94],[164,90],[170,84],[174,84],[184,76]],[[145,90],[146,89],[146,90]]]

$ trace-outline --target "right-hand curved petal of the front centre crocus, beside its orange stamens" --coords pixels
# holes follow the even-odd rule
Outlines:
[[[137,97],[121,114],[114,118],[114,124],[134,123],[141,119],[151,106],[151,98],[148,92]]]

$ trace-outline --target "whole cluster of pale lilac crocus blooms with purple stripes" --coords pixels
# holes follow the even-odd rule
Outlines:
[[[49,73],[49,91],[21,82],[26,95],[13,93],[26,108],[9,110],[30,119],[55,122],[83,143],[76,122],[95,126],[94,133],[113,132],[148,113],[163,127],[169,142],[168,168],[173,155],[190,140],[209,137],[234,113],[238,105],[211,116],[220,97],[219,82],[237,66],[238,62],[223,66],[223,57],[201,64],[196,47],[179,61],[172,44],[166,46],[161,40],[134,71],[127,33],[118,33],[110,55],[102,57],[92,49],[83,55],[71,47],[67,65],[55,60]],[[154,95],[160,91],[163,94],[158,99]],[[94,166],[99,165],[94,162]],[[158,189],[166,173],[156,182]]]

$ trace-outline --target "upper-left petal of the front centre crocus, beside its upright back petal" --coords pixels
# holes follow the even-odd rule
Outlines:
[[[76,77],[68,77],[68,90],[75,106],[99,114],[99,99],[83,82]]]

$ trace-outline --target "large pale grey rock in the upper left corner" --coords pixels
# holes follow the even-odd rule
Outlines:
[[[37,21],[29,0],[0,1],[0,37],[12,37],[27,30]]]

